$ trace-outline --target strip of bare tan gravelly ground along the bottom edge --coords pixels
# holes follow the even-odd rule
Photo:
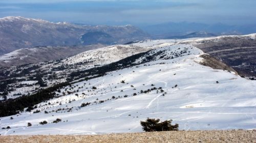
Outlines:
[[[256,142],[256,130],[0,136],[0,142]]]

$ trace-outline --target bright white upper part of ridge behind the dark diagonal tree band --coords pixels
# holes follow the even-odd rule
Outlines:
[[[129,45],[111,45],[96,50],[86,51],[63,59],[60,64],[70,65],[85,62],[81,66],[77,66],[79,66],[80,69],[88,69],[90,67],[94,67],[95,65],[109,64],[138,53],[158,49],[160,47],[172,44],[174,44],[173,40],[145,40]],[[60,64],[46,65],[42,68],[59,66]]]

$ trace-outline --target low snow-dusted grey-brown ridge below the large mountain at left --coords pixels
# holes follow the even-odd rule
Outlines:
[[[0,55],[0,67],[59,60],[100,47],[104,47],[104,45],[38,46],[19,49],[5,55]]]

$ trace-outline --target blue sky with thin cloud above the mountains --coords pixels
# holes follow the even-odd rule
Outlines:
[[[255,0],[1,0],[0,17],[24,16],[86,24],[256,23]]]

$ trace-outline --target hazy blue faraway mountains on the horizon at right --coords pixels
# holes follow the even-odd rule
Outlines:
[[[194,32],[208,32],[216,35],[244,35],[256,33],[256,25],[205,24],[196,22],[166,22],[158,25],[140,26],[142,30],[157,39],[184,36]]]

